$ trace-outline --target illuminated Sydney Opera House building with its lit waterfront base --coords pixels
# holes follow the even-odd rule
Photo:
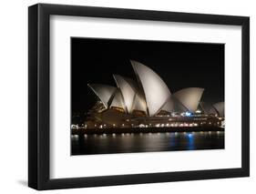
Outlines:
[[[206,105],[200,87],[173,92],[151,68],[130,62],[137,80],[113,75],[116,87],[87,85],[97,103],[88,110],[84,128],[223,128],[224,102]]]

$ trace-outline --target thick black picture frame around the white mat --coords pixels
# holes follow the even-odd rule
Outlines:
[[[241,168],[50,179],[50,15],[241,26]],[[32,5],[28,8],[28,88],[28,186],[31,188],[38,190],[69,189],[250,176],[250,18],[247,16],[204,15],[78,5]]]

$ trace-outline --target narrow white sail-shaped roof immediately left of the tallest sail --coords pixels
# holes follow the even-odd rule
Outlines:
[[[133,107],[133,101],[136,96],[136,88],[133,86],[134,83],[132,82],[131,79],[127,77],[121,77],[118,75],[113,75],[115,78],[115,81],[118,85],[118,88],[120,89],[122,93],[122,97],[124,98],[125,102],[125,107],[128,111],[128,113],[132,112],[132,107]]]

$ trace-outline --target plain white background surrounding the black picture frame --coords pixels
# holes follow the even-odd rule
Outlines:
[[[256,3],[250,0],[41,0],[40,3],[113,6],[120,8],[156,9],[190,13],[251,16],[251,54],[256,50]],[[0,31],[0,114],[1,114],[1,193],[36,193],[27,184],[27,6],[35,0],[5,1],[1,4]],[[256,63],[251,55],[251,65]],[[256,67],[251,66],[251,177],[182,181],[147,185],[116,186],[90,189],[65,189],[46,193],[246,193],[255,188],[256,181]],[[221,158],[220,158],[221,159]],[[251,192],[250,192],[251,193]]]

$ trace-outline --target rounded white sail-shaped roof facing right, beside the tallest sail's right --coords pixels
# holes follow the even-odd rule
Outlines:
[[[189,111],[195,112],[198,109],[203,90],[204,89],[200,87],[188,87],[179,90],[174,93],[173,96],[176,97],[184,107],[187,107]]]

